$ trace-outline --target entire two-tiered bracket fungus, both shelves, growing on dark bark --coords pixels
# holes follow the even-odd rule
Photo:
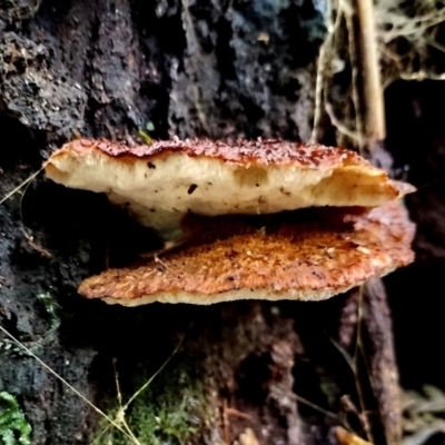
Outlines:
[[[398,201],[414,188],[346,149],[76,140],[46,171],[68,187],[106,192],[165,238],[188,234],[161,259],[108,269],[79,287],[110,304],[318,300],[414,257],[414,225]]]

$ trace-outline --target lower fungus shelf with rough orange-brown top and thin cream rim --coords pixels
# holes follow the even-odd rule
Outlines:
[[[319,300],[413,260],[414,225],[397,201],[369,212],[313,211],[264,217],[259,226],[251,217],[191,218],[197,236],[181,249],[106,270],[86,279],[79,293],[126,306]]]

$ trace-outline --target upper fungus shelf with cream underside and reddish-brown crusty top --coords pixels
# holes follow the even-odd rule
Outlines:
[[[105,192],[145,226],[171,233],[188,212],[275,214],[310,206],[376,207],[409,191],[354,151],[283,140],[75,140],[46,164],[67,187]]]

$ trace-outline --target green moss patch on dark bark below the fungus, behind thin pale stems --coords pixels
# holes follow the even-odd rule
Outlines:
[[[151,375],[145,372],[132,377],[122,392],[122,404],[136,393]],[[116,419],[119,413],[118,396],[107,398],[107,415]],[[186,445],[196,443],[206,424],[208,403],[200,376],[191,364],[175,358],[154,382],[128,406],[125,421],[142,445]],[[118,416],[119,417],[119,416]],[[116,421],[119,423],[119,421]],[[106,428],[106,433],[101,434]],[[101,435],[100,435],[101,434]],[[100,435],[100,437],[99,437]],[[102,418],[95,435],[95,444],[127,445],[135,443]],[[198,441],[199,442],[199,441]]]

